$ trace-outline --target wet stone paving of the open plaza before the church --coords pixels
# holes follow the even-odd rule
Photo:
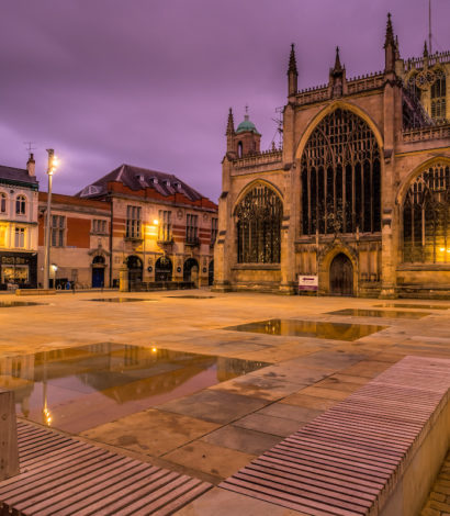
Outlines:
[[[124,298],[140,301],[91,301]],[[0,309],[0,360],[112,343],[256,362],[259,369],[247,374],[198,383],[188,394],[180,391],[181,397],[151,406],[138,396],[134,401],[137,391],[130,390],[125,412],[122,400],[103,395],[100,388],[86,392],[79,403],[66,403],[69,423],[56,430],[215,485],[404,356],[450,358],[450,301],[217,294],[203,289],[0,296],[0,302],[8,301],[42,304]],[[272,333],[236,330],[269,321],[266,330]],[[373,333],[358,338],[359,325]],[[235,329],[225,329],[229,327]],[[280,328],[291,335],[277,335]],[[299,328],[307,330],[296,336]],[[227,512],[221,513],[224,503]],[[232,511],[233,504],[240,513]],[[179,514],[244,514],[243,504],[251,504],[245,514],[299,514],[217,487]]]

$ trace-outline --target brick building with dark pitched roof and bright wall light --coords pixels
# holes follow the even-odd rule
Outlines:
[[[212,282],[217,205],[176,176],[122,165],[77,197],[111,206],[111,285]]]

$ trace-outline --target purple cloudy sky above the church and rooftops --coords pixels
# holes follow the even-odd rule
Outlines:
[[[450,1],[432,0],[434,51],[450,49]],[[403,57],[419,55],[428,0],[13,0],[0,16],[0,164],[36,147],[76,193],[122,162],[176,173],[216,200],[229,106],[268,148],[285,102],[290,44],[299,88],[323,83],[336,45],[347,76],[380,70],[386,12]]]

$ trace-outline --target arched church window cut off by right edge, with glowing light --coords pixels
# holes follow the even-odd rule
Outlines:
[[[438,162],[409,186],[403,206],[403,259],[450,263],[450,165]]]

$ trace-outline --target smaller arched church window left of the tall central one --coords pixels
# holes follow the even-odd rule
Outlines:
[[[283,204],[258,184],[236,206],[238,263],[280,263]]]

